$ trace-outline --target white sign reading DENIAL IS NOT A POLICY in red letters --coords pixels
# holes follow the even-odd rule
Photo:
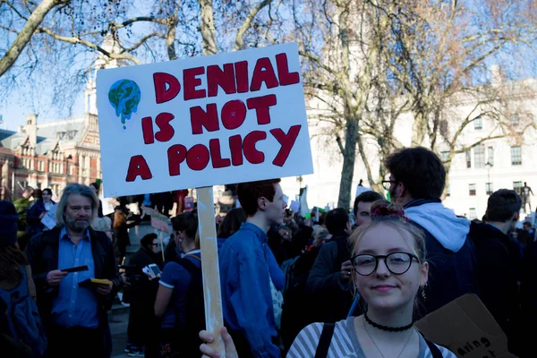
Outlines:
[[[105,196],[313,173],[296,44],[100,70]]]

